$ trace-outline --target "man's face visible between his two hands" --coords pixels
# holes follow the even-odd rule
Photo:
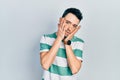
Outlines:
[[[68,36],[78,27],[80,21],[72,13],[68,13],[64,18],[65,18],[65,27],[67,28],[65,32],[65,36]]]

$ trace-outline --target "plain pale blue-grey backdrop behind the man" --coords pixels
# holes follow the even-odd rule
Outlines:
[[[39,41],[66,8],[83,13],[79,80],[120,80],[119,0],[0,0],[0,80],[41,80]]]

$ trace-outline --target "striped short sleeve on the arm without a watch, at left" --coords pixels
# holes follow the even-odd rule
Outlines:
[[[40,52],[49,51],[50,46],[47,44],[47,40],[45,35],[43,35],[40,39]]]

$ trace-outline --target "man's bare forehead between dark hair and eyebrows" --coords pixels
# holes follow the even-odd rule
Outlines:
[[[79,19],[72,13],[68,13],[66,16],[65,16],[65,19],[72,22],[72,24],[79,24]]]

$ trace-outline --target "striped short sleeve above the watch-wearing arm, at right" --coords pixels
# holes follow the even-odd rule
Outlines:
[[[76,42],[74,54],[77,59],[83,61],[83,48],[84,48],[84,42]]]

